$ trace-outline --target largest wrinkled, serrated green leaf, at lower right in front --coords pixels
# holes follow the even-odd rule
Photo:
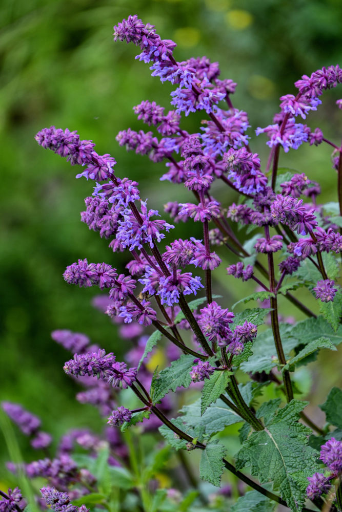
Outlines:
[[[307,403],[291,400],[265,430],[253,432],[245,440],[236,457],[237,468],[250,467],[251,475],[261,484],[273,482],[273,490],[298,511],[306,499],[307,477],[320,467],[317,451],[308,446],[311,430],[298,422]]]

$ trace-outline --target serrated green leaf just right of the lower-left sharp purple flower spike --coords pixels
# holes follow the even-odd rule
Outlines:
[[[188,388],[191,383],[190,370],[193,366],[194,356],[183,354],[179,359],[173,361],[171,366],[162,370],[154,381],[153,404],[164,398],[171,390],[177,388]]]

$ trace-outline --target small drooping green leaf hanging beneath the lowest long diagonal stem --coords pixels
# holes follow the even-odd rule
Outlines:
[[[199,464],[199,475],[202,480],[212,483],[216,487],[220,486],[223,468],[225,464],[223,458],[226,455],[226,448],[220,444],[217,439],[206,445],[202,452]]]

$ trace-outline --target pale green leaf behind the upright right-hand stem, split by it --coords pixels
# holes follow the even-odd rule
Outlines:
[[[299,341],[292,335],[293,326],[280,324],[279,328],[285,357],[288,358],[291,350],[299,344]],[[272,329],[267,329],[258,334],[251,346],[251,350],[253,355],[249,357],[248,361],[244,361],[240,365],[240,369],[244,372],[256,373],[265,371],[269,373],[274,366],[279,364]]]

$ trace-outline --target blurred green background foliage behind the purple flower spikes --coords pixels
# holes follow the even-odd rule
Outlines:
[[[177,60],[202,55],[218,60],[222,77],[238,83],[233,103],[247,110],[252,129],[271,122],[279,96],[293,93],[296,79],[335,65],[342,51],[340,0],[2,1],[0,398],[19,401],[41,415],[43,428],[55,435],[67,426],[95,425],[98,416],[75,402],[76,385],[62,370],[68,354],[52,342],[51,330],[85,332],[114,352],[122,346],[109,319],[91,306],[96,290],[68,286],[62,273],[77,258],[119,268],[128,260],[113,255],[106,240],[79,222],[92,183],[75,180],[76,168],[39,147],[35,133],[54,124],[93,139],[98,153],[115,156],[119,176],[140,183],[152,207],[189,198],[182,187],[158,181],[165,163],[126,153],[115,141],[117,132],[129,126],[146,129],[136,120],[133,105],[148,99],[167,108],[170,100],[170,84],[152,78],[148,66],[134,60],[137,49],[113,42],[113,25],[134,13],[154,24],[162,38],[177,42]],[[336,143],[342,123],[335,101],[341,96],[338,89],[326,93],[324,105],[308,119],[312,129],[319,125]],[[198,131],[202,117],[190,116],[183,126]],[[253,151],[265,161],[266,139],[255,139],[253,133]],[[328,146],[302,146],[282,155],[280,165],[318,180],[323,201],[336,200]],[[236,200],[229,190],[215,189],[225,206]],[[174,233],[185,234],[184,226]],[[191,234],[200,237],[199,226]],[[234,261],[226,258],[224,263]],[[251,290],[237,282],[231,290],[225,266],[216,290],[228,296],[228,306]],[[339,367],[329,356],[319,359],[320,377],[318,366],[312,367],[315,403],[322,403],[327,389],[338,384]],[[18,439],[25,451],[27,440]],[[1,452],[6,460],[6,450]]]

